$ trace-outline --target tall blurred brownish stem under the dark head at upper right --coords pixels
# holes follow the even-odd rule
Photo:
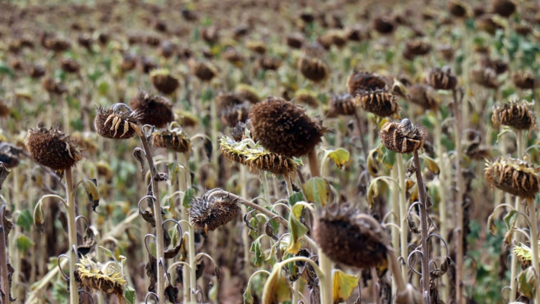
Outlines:
[[[463,304],[463,292],[461,289],[463,277],[463,178],[461,177],[461,114],[458,105],[456,89],[452,90],[454,97],[455,119],[455,167],[456,167],[456,229],[454,239],[457,242],[456,251],[456,302]]]

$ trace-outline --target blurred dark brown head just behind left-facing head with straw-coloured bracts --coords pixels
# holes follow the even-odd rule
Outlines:
[[[139,93],[131,98],[130,106],[133,111],[138,111],[141,114],[139,117],[141,124],[163,128],[174,120],[172,104],[163,96],[139,90]]]

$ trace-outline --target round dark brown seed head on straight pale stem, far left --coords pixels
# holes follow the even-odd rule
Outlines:
[[[83,159],[75,142],[58,129],[30,129],[24,144],[33,160],[53,170],[66,170]]]

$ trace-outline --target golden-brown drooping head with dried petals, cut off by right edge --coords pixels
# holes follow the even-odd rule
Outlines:
[[[540,190],[540,167],[515,158],[487,161],[485,179],[491,187],[522,198],[534,198]]]

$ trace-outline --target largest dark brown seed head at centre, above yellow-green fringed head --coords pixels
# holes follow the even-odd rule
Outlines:
[[[253,136],[270,152],[292,158],[321,142],[322,127],[302,107],[283,98],[268,97],[249,111]]]

